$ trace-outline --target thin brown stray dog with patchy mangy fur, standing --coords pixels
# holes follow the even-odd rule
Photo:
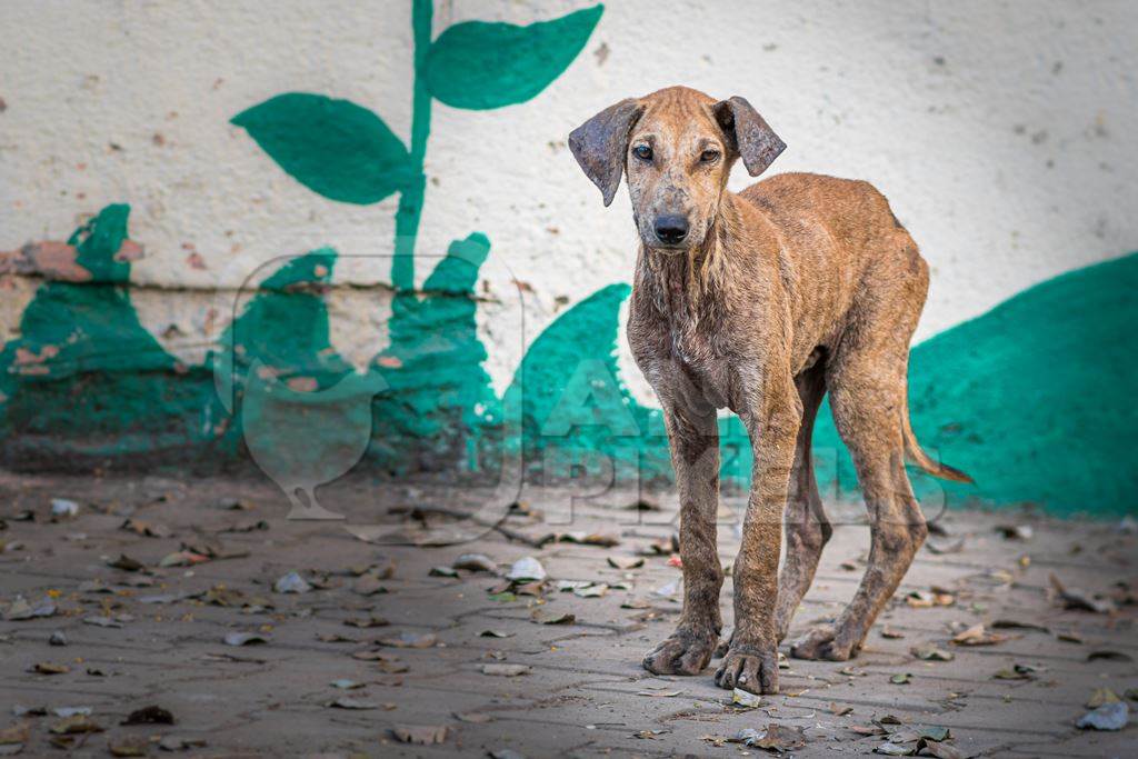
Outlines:
[[[823,396],[857,468],[872,547],[853,600],[792,655],[849,659],[905,576],[927,534],[906,453],[927,472],[971,481],[932,461],[909,426],[909,340],[929,267],[866,182],[783,174],[729,192],[736,158],[757,176],[785,148],[743,98],[675,86],[622,100],[574,130],[569,148],[604,205],[628,178],[641,237],[628,343],[663,406],[681,500],[684,609],[644,667],[695,675],[719,643],[716,410],[727,407],[754,463],[733,572],[735,632],[715,678],[777,693],[777,645],[832,531],[810,461]]]

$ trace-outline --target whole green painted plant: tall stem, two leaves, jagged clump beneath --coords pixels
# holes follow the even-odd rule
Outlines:
[[[393,473],[455,459],[475,471],[481,440],[501,421],[475,325],[473,288],[489,240],[476,232],[455,241],[414,287],[431,101],[489,109],[535,97],[574,61],[602,13],[594,6],[528,26],[465,22],[432,41],[432,5],[413,0],[410,148],[373,112],[320,94],[280,94],[232,119],[290,176],[329,199],[374,204],[399,192],[390,345],[371,370],[388,391],[374,401],[369,453]]]

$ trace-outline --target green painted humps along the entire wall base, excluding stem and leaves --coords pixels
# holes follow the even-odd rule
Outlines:
[[[390,345],[366,372],[329,338],[330,249],[289,259],[256,288],[205,364],[187,366],[134,312],[129,275],[138,246],[129,215],[125,205],[108,206],[72,234],[61,249],[73,251],[74,266],[58,257],[55,265],[75,281],[41,284],[20,337],[0,352],[7,464],[217,464],[249,453],[283,477],[286,489],[305,489],[308,498],[295,501],[305,508],[315,485],[361,456],[405,469],[417,443],[438,452],[427,469],[461,460],[478,470],[486,445],[509,443],[496,436],[501,406],[518,403],[531,470],[669,475],[659,411],[635,402],[616,363],[625,284],[603,288],[546,328],[501,401],[475,324],[471,290],[490,250],[477,233],[452,244],[423,292],[397,295]],[[1130,360],[1136,291],[1138,253],[1044,282],[914,348],[917,434],[930,451],[975,472],[975,486],[946,486],[953,503],[1133,513],[1138,462],[1128,442],[1138,419],[1130,404],[1110,399],[1138,390]],[[452,428],[461,438],[445,432]],[[734,418],[721,431],[725,480],[745,479],[745,437]],[[440,449],[440,440],[451,447]],[[825,412],[815,445],[819,481],[851,492],[852,469]],[[927,497],[921,484],[929,481],[917,482]]]

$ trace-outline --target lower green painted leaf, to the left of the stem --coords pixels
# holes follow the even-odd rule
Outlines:
[[[413,173],[406,148],[384,119],[348,100],[287,92],[232,123],[292,179],[332,200],[378,203]]]

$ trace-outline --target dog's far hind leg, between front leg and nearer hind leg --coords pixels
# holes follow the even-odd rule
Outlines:
[[[799,374],[794,385],[802,399],[802,426],[798,430],[786,498],[786,554],[778,575],[778,610],[775,617],[780,641],[786,637],[794,611],[814,580],[822,548],[833,533],[822,506],[810,455],[814,420],[826,394],[825,358]]]

